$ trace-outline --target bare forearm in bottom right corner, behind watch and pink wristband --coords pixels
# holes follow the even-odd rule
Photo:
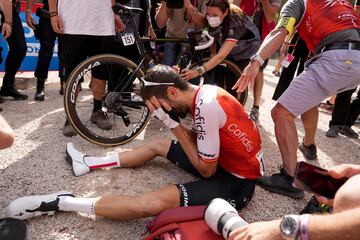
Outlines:
[[[340,220],[340,221],[339,221]],[[331,215],[310,216],[310,240],[357,240],[360,236],[360,207]]]

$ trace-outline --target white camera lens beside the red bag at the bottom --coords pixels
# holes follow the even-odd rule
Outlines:
[[[215,198],[207,205],[204,218],[207,225],[225,239],[234,229],[248,224],[230,203],[221,198]]]

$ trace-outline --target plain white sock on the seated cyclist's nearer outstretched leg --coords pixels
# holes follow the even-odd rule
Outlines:
[[[82,212],[95,215],[95,202],[98,198],[75,198],[70,196],[59,197],[59,210]]]

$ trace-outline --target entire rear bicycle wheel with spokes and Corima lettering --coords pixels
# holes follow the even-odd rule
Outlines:
[[[150,117],[138,95],[139,79],[143,76],[135,63],[117,55],[97,55],[80,63],[68,78],[64,97],[66,115],[76,132],[102,146],[117,146],[134,139]],[[93,96],[99,93],[102,115],[111,124],[108,130],[100,129],[91,120]]]

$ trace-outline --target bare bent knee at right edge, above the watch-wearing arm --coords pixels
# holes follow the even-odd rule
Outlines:
[[[360,174],[350,178],[336,193],[334,211],[341,212],[360,206],[360,193],[354,191],[360,185]]]

